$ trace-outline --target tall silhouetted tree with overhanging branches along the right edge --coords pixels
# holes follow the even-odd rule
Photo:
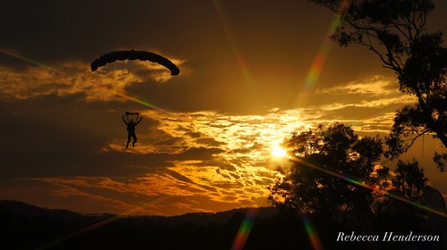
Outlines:
[[[429,33],[426,17],[431,0],[342,1],[309,0],[341,15],[342,24],[332,38],[340,46],[357,44],[375,53],[384,68],[397,74],[401,92],[415,96],[394,117],[387,156],[397,158],[417,137],[432,134],[447,146],[447,48],[443,33]],[[434,162],[445,171],[447,154]]]

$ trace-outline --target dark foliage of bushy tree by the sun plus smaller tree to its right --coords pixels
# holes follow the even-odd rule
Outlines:
[[[381,165],[380,137],[358,137],[335,123],[293,132],[284,140],[291,166],[270,187],[268,200],[286,212],[311,213],[322,221],[366,234],[384,229],[418,229],[426,220],[427,179],[416,160]],[[289,214],[289,213],[288,213]]]

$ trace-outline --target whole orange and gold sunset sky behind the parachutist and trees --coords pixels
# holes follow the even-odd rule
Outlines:
[[[445,34],[447,1],[434,3],[427,27]],[[307,0],[3,1],[0,199],[156,215],[267,205],[292,131],[340,121],[384,136],[415,101],[375,54],[327,40],[333,18]],[[131,49],[181,74],[143,62],[90,71]],[[128,149],[126,111],[143,116]],[[417,158],[445,198],[434,150],[445,152],[426,136],[402,159]]]

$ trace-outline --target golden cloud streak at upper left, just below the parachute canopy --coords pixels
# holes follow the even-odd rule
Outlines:
[[[181,60],[174,60],[183,63]],[[87,101],[112,101],[116,93],[125,94],[126,87],[152,79],[163,83],[173,78],[156,63],[118,62],[91,72],[80,62],[60,63],[54,67],[13,69],[0,66],[0,94],[16,99],[39,96],[86,94]],[[188,71],[184,73],[187,74]]]

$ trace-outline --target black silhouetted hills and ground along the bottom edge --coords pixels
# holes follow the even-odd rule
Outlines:
[[[235,239],[247,237],[247,249],[447,249],[442,242],[371,242],[336,240],[340,232],[361,233],[361,221],[328,221],[323,216],[297,216],[272,207],[227,212],[187,213],[179,216],[118,216],[80,214],[40,208],[16,201],[0,201],[0,249],[232,249]],[[399,221],[399,216],[379,218],[375,234],[431,233]],[[408,218],[403,218],[407,220]],[[439,220],[438,220],[439,221]],[[353,226],[354,225],[354,226]],[[403,226],[402,226],[403,225]],[[445,235],[444,232],[435,232]],[[311,241],[313,243],[311,243]]]

